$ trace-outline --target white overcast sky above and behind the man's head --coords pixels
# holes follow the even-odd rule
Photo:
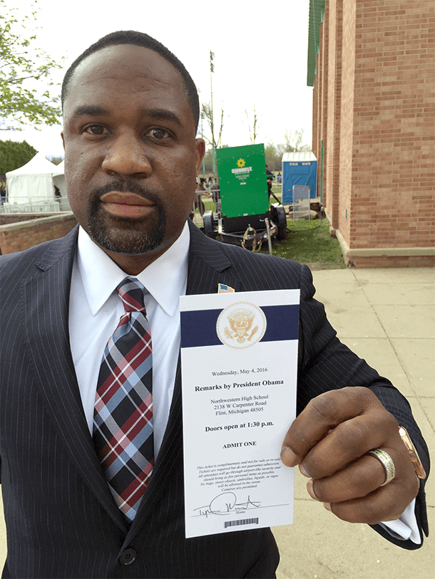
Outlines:
[[[24,11],[30,0],[7,0]],[[307,87],[309,0],[39,0],[37,43],[68,67],[91,43],[109,32],[135,29],[154,36],[175,53],[210,101],[209,53],[215,53],[215,122],[224,110],[222,143],[247,145],[245,110],[260,116],[257,142],[284,142],[286,130],[305,130],[311,144],[312,88]],[[65,71],[65,68],[63,69]],[[57,80],[61,80],[59,73]],[[41,131],[1,132],[6,140],[27,140],[44,155],[61,155],[61,125]],[[206,127],[204,127],[206,132]]]

